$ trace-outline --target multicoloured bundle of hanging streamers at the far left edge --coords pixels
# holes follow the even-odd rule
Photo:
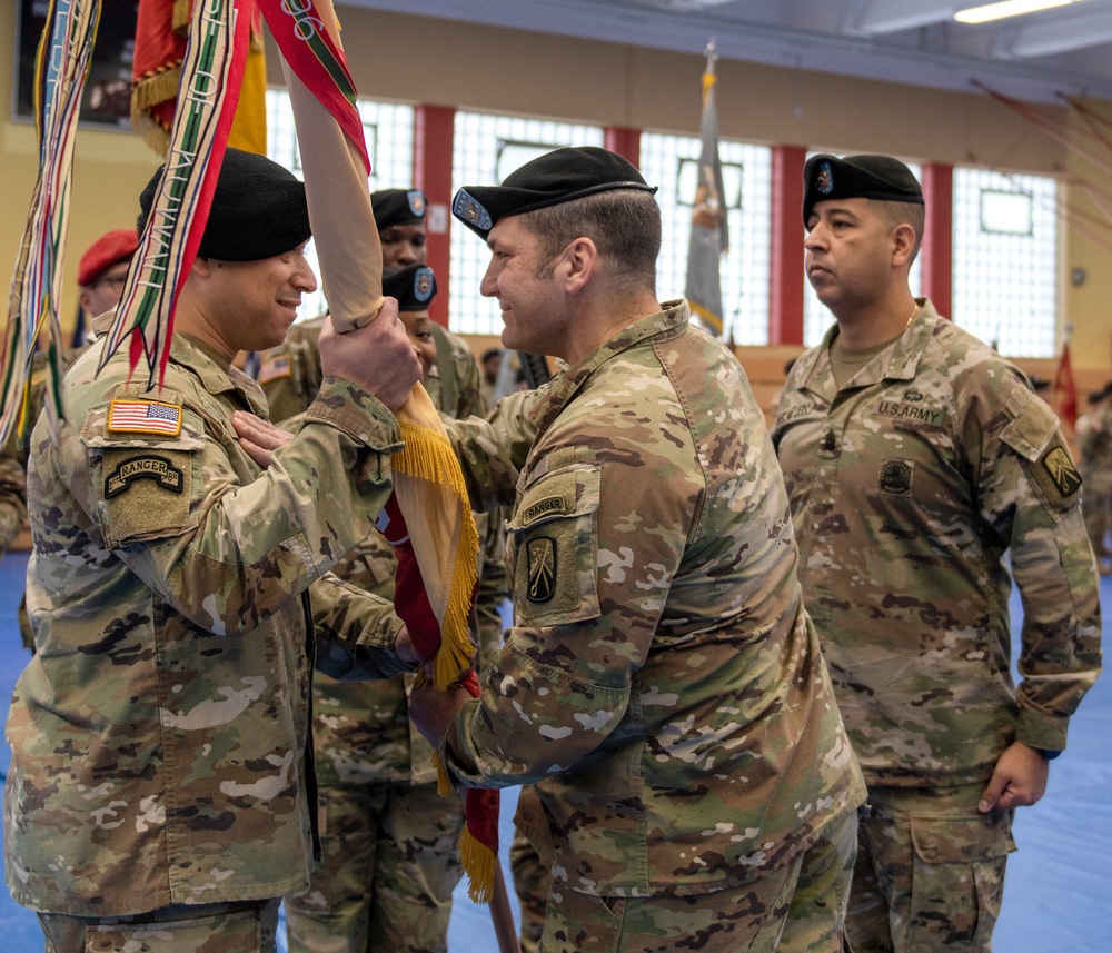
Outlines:
[[[34,63],[39,176],[8,296],[8,335],[0,360],[0,443],[7,441],[17,425],[20,431],[27,428],[28,376],[44,325],[50,328],[46,408],[51,420],[61,413],[58,383],[64,341],[58,308],[62,297],[62,249],[78,113],[99,22],[99,0],[51,2],[39,41]]]

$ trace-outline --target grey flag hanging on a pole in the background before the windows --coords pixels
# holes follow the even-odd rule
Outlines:
[[[712,41],[706,49],[706,71],[703,73],[703,118],[698,133],[703,148],[692,209],[685,297],[707,330],[721,337],[723,320],[718,264],[723,254],[729,250],[729,231],[723,198],[722,162],[718,161],[718,113],[714,105],[716,59]]]

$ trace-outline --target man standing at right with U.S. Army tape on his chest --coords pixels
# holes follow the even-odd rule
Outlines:
[[[793,367],[773,440],[868,783],[846,936],[990,951],[1014,808],[1042,796],[1100,667],[1081,482],[1023,375],[912,297],[924,206],[906,166],[821,155],[805,177],[807,275],[837,324]]]

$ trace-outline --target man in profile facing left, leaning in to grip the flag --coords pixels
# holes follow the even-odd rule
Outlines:
[[[460,784],[536,784],[540,949],[830,951],[862,781],[761,411],[656,301],[654,191],[575,148],[456,196],[506,346],[569,366],[447,425],[473,494],[518,487],[515,626],[480,699],[410,712]]]

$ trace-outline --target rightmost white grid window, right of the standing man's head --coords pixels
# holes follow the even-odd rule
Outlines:
[[[1010,357],[1058,349],[1058,182],[954,169],[954,324]]]

